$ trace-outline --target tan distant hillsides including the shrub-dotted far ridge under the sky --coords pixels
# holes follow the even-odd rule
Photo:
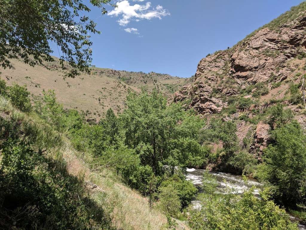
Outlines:
[[[9,79],[8,85],[17,82],[26,85],[33,98],[40,98],[43,90],[55,90],[58,100],[67,109],[83,111],[88,119],[99,120],[106,110],[115,113],[123,111],[124,100],[129,91],[151,91],[156,88],[172,100],[173,92],[190,83],[190,79],[172,77],[167,74],[116,71],[95,68],[94,75],[63,80],[58,63],[45,63],[45,66],[30,67],[18,60],[12,60],[14,70],[1,69],[2,79]],[[47,68],[46,68],[47,67]],[[69,87],[68,87],[68,83]]]

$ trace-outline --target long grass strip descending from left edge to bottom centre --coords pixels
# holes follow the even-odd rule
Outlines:
[[[137,191],[124,185],[120,176],[108,168],[91,169],[93,158],[88,153],[77,152],[69,140],[55,132],[35,114],[25,114],[13,108],[3,97],[0,97],[0,116],[9,120],[18,117],[16,125],[26,127],[28,135],[36,140],[40,148],[49,149],[47,154],[54,159],[64,159],[67,162],[69,174],[83,177],[98,187],[87,186],[89,196],[94,199],[111,217],[112,225],[121,230],[163,229],[166,217],[158,209],[149,209],[148,201]],[[20,121],[20,122],[19,122]],[[1,162],[1,157],[0,157]],[[189,229],[184,223],[177,221],[177,229]]]

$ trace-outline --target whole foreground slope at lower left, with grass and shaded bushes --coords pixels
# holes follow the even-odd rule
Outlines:
[[[147,198],[123,184],[120,176],[112,169],[101,166],[93,168],[96,162],[91,153],[76,151],[65,138],[66,135],[54,130],[35,113],[23,113],[14,108],[9,100],[0,96],[0,123],[0,148],[3,148],[0,156],[0,177],[3,179],[2,176],[5,176],[8,182],[0,183],[0,192],[3,191],[3,186],[8,186],[9,189],[5,194],[1,193],[1,197],[5,198],[4,203],[1,200],[1,207],[6,207],[2,209],[5,211],[0,213],[2,229],[28,229],[35,226],[35,223],[42,229],[63,229],[63,226],[66,226],[66,229],[164,228],[167,223],[165,215],[157,209],[151,210]],[[8,136],[13,138],[11,144],[15,146],[10,155],[6,154],[10,149],[10,144],[6,142]],[[24,141],[30,152],[27,154],[23,150],[17,155],[17,150]],[[18,161],[14,161],[13,156],[18,158]],[[25,164],[22,167],[18,162]],[[35,163],[36,167],[32,168],[29,165],[31,162]],[[15,181],[10,177],[10,173],[14,173]],[[32,175],[35,178],[32,178]],[[19,183],[19,187],[14,186],[15,182]],[[27,189],[32,190],[32,195],[36,196],[35,200],[28,200],[31,199],[30,196],[20,202],[10,200],[13,195],[25,195],[27,190],[22,190],[22,186],[35,183],[37,190],[35,187]],[[44,190],[48,192],[45,197]],[[43,202],[48,202],[49,208],[46,210],[39,206]],[[24,211],[20,213],[20,210]],[[61,219],[56,224],[53,221],[58,217]],[[24,223],[24,218],[27,223]],[[48,223],[50,225],[46,225]],[[25,228],[21,227],[22,225]],[[177,229],[188,227],[178,221]]]

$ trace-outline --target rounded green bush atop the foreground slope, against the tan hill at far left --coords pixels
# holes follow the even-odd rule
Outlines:
[[[4,88],[5,89],[5,88]],[[26,86],[19,86],[13,83],[13,86],[6,87],[8,97],[12,104],[23,112],[29,112],[32,109],[31,100],[29,98],[30,92]]]

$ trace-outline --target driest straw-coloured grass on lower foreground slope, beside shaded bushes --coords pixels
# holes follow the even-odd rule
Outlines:
[[[158,209],[150,210],[147,198],[121,183],[120,177],[110,169],[104,168],[96,172],[89,170],[85,161],[77,157],[78,155],[82,154],[66,142],[63,158],[67,162],[69,173],[75,176],[84,175],[85,180],[98,186],[91,196],[104,210],[110,211],[114,227],[125,230],[164,228],[163,225],[167,222],[165,215]],[[91,158],[89,155],[84,157],[86,161]],[[177,230],[189,229],[183,222],[177,222]]]

